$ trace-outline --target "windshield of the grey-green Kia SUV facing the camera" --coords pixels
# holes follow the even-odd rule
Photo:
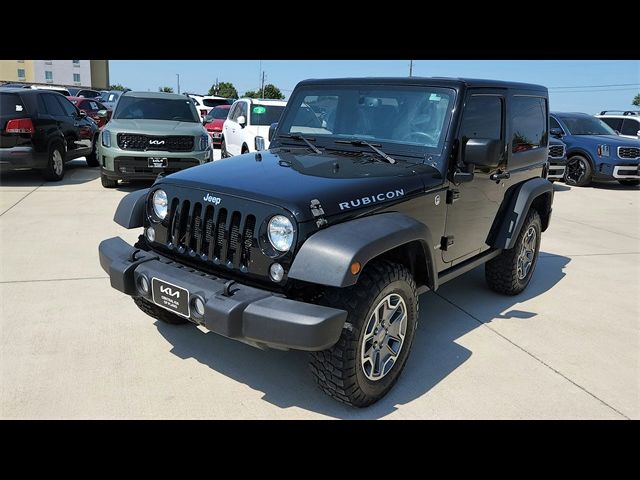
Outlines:
[[[175,120],[178,122],[198,122],[193,103],[188,98],[142,98],[124,96],[118,102],[115,119],[127,120]]]

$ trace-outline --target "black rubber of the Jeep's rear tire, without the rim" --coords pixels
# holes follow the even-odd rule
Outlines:
[[[522,286],[518,281],[516,258],[520,251],[522,237],[534,222],[537,222],[538,224],[538,242],[540,242],[540,232],[542,231],[540,215],[537,210],[531,209],[524,221],[524,224],[522,225],[522,228],[520,229],[515,246],[509,250],[503,251],[496,258],[485,263],[485,279],[491,290],[504,295],[517,295],[526,288],[527,285]],[[533,274],[533,271],[531,274]]]

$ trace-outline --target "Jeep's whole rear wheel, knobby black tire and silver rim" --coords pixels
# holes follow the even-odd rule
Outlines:
[[[540,215],[536,210],[530,210],[516,245],[484,266],[485,278],[491,290],[517,295],[527,288],[538,263],[541,232]]]

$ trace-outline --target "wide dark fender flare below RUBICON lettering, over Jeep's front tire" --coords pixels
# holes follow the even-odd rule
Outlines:
[[[418,241],[427,262],[427,281],[437,288],[431,231],[407,215],[391,212],[333,225],[309,237],[295,256],[288,277],[331,287],[348,287],[358,281],[365,265],[379,255]],[[362,265],[353,275],[354,262]]]

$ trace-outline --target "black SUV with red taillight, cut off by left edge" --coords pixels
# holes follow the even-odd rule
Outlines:
[[[61,180],[74,158],[98,166],[97,138],[96,123],[59,93],[0,91],[0,171],[36,168],[47,180]]]

